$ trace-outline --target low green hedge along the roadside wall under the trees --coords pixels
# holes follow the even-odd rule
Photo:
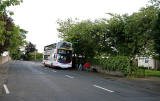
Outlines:
[[[145,77],[145,68],[137,67],[127,56],[112,56],[101,59],[87,59],[91,65],[99,65],[103,70],[121,71],[128,77]]]

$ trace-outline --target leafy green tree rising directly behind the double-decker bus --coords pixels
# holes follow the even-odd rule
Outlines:
[[[68,19],[67,21],[58,21],[58,24],[60,26],[58,28],[59,37],[73,44],[75,54],[86,58],[98,54],[101,35],[105,31],[103,20],[73,22]]]

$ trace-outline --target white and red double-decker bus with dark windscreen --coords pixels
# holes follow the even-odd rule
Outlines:
[[[72,44],[58,42],[45,46],[43,64],[56,68],[72,68]]]

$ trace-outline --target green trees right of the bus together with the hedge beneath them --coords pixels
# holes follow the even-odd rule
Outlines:
[[[108,20],[58,21],[59,37],[73,44],[75,54],[105,70],[145,75],[143,68],[134,65],[135,57],[160,54],[160,2],[150,2],[131,15],[108,13]],[[97,57],[101,60],[95,61]]]

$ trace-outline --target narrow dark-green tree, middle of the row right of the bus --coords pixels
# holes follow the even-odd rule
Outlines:
[[[107,20],[107,33],[105,34],[105,48],[110,51],[111,55],[127,54],[126,40],[125,40],[125,16],[114,15],[111,19]]]

